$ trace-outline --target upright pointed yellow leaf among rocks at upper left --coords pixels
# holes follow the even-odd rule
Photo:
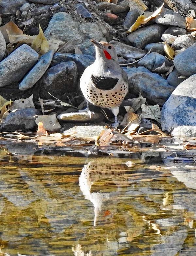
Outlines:
[[[49,44],[48,44],[47,39],[44,36],[43,30],[41,29],[40,24],[39,24],[39,28],[40,28],[40,32],[33,40],[31,47],[34,50],[36,50],[39,54],[42,55],[42,54],[48,52]]]

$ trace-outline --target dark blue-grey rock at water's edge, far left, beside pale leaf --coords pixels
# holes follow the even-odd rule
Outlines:
[[[40,111],[35,108],[15,109],[6,117],[3,123],[3,130],[33,130],[36,128],[36,115],[40,115]]]

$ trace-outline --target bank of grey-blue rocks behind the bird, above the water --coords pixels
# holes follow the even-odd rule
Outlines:
[[[94,46],[90,43],[94,38],[115,46],[119,63],[128,75],[129,92],[119,116],[122,126],[127,125],[129,131],[137,133],[141,127],[149,129],[153,119],[155,125],[161,124],[163,131],[194,137],[196,38],[194,29],[188,27],[187,17],[194,23],[196,4],[187,1],[188,10],[174,5],[179,11],[165,3],[155,17],[127,33],[142,14],[141,6],[134,0],[119,0],[117,4],[99,0],[1,0],[0,96],[13,101],[12,105],[24,101],[23,106],[15,108],[8,103],[1,106],[4,111],[7,107],[6,114],[1,116],[1,131],[36,130],[36,118],[43,115],[53,116],[48,122],[53,127],[56,124],[55,129],[51,126],[46,129],[49,132],[62,132],[81,122],[110,124],[107,119],[113,116],[107,110],[103,114],[100,108],[90,106],[95,112],[92,119],[86,113],[76,113],[85,105],[79,79],[95,60]],[[160,8],[163,1],[142,3],[147,15]],[[10,21],[9,31],[6,24],[10,26]],[[13,23],[18,26],[18,34]],[[49,43],[47,52],[41,52],[43,45],[39,49],[33,47],[33,40],[41,33],[39,25]],[[168,50],[172,50],[173,57]],[[141,96],[146,103],[140,102]],[[28,100],[26,104],[30,98],[30,104]],[[134,108],[136,101],[140,103]],[[140,116],[144,103],[163,107],[161,119],[155,114],[155,118]],[[134,130],[130,117],[133,114],[139,118]],[[43,123],[43,118],[40,120]]]

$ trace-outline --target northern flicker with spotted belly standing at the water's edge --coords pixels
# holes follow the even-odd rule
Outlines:
[[[96,49],[95,62],[84,70],[80,89],[89,102],[101,108],[109,108],[115,116],[117,127],[119,107],[128,92],[128,77],[118,63],[118,56],[112,44],[90,40]]]

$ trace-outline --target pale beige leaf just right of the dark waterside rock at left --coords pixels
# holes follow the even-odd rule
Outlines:
[[[58,131],[60,124],[57,121],[56,115],[42,115],[35,119],[36,124],[43,123],[43,128],[47,131]]]

